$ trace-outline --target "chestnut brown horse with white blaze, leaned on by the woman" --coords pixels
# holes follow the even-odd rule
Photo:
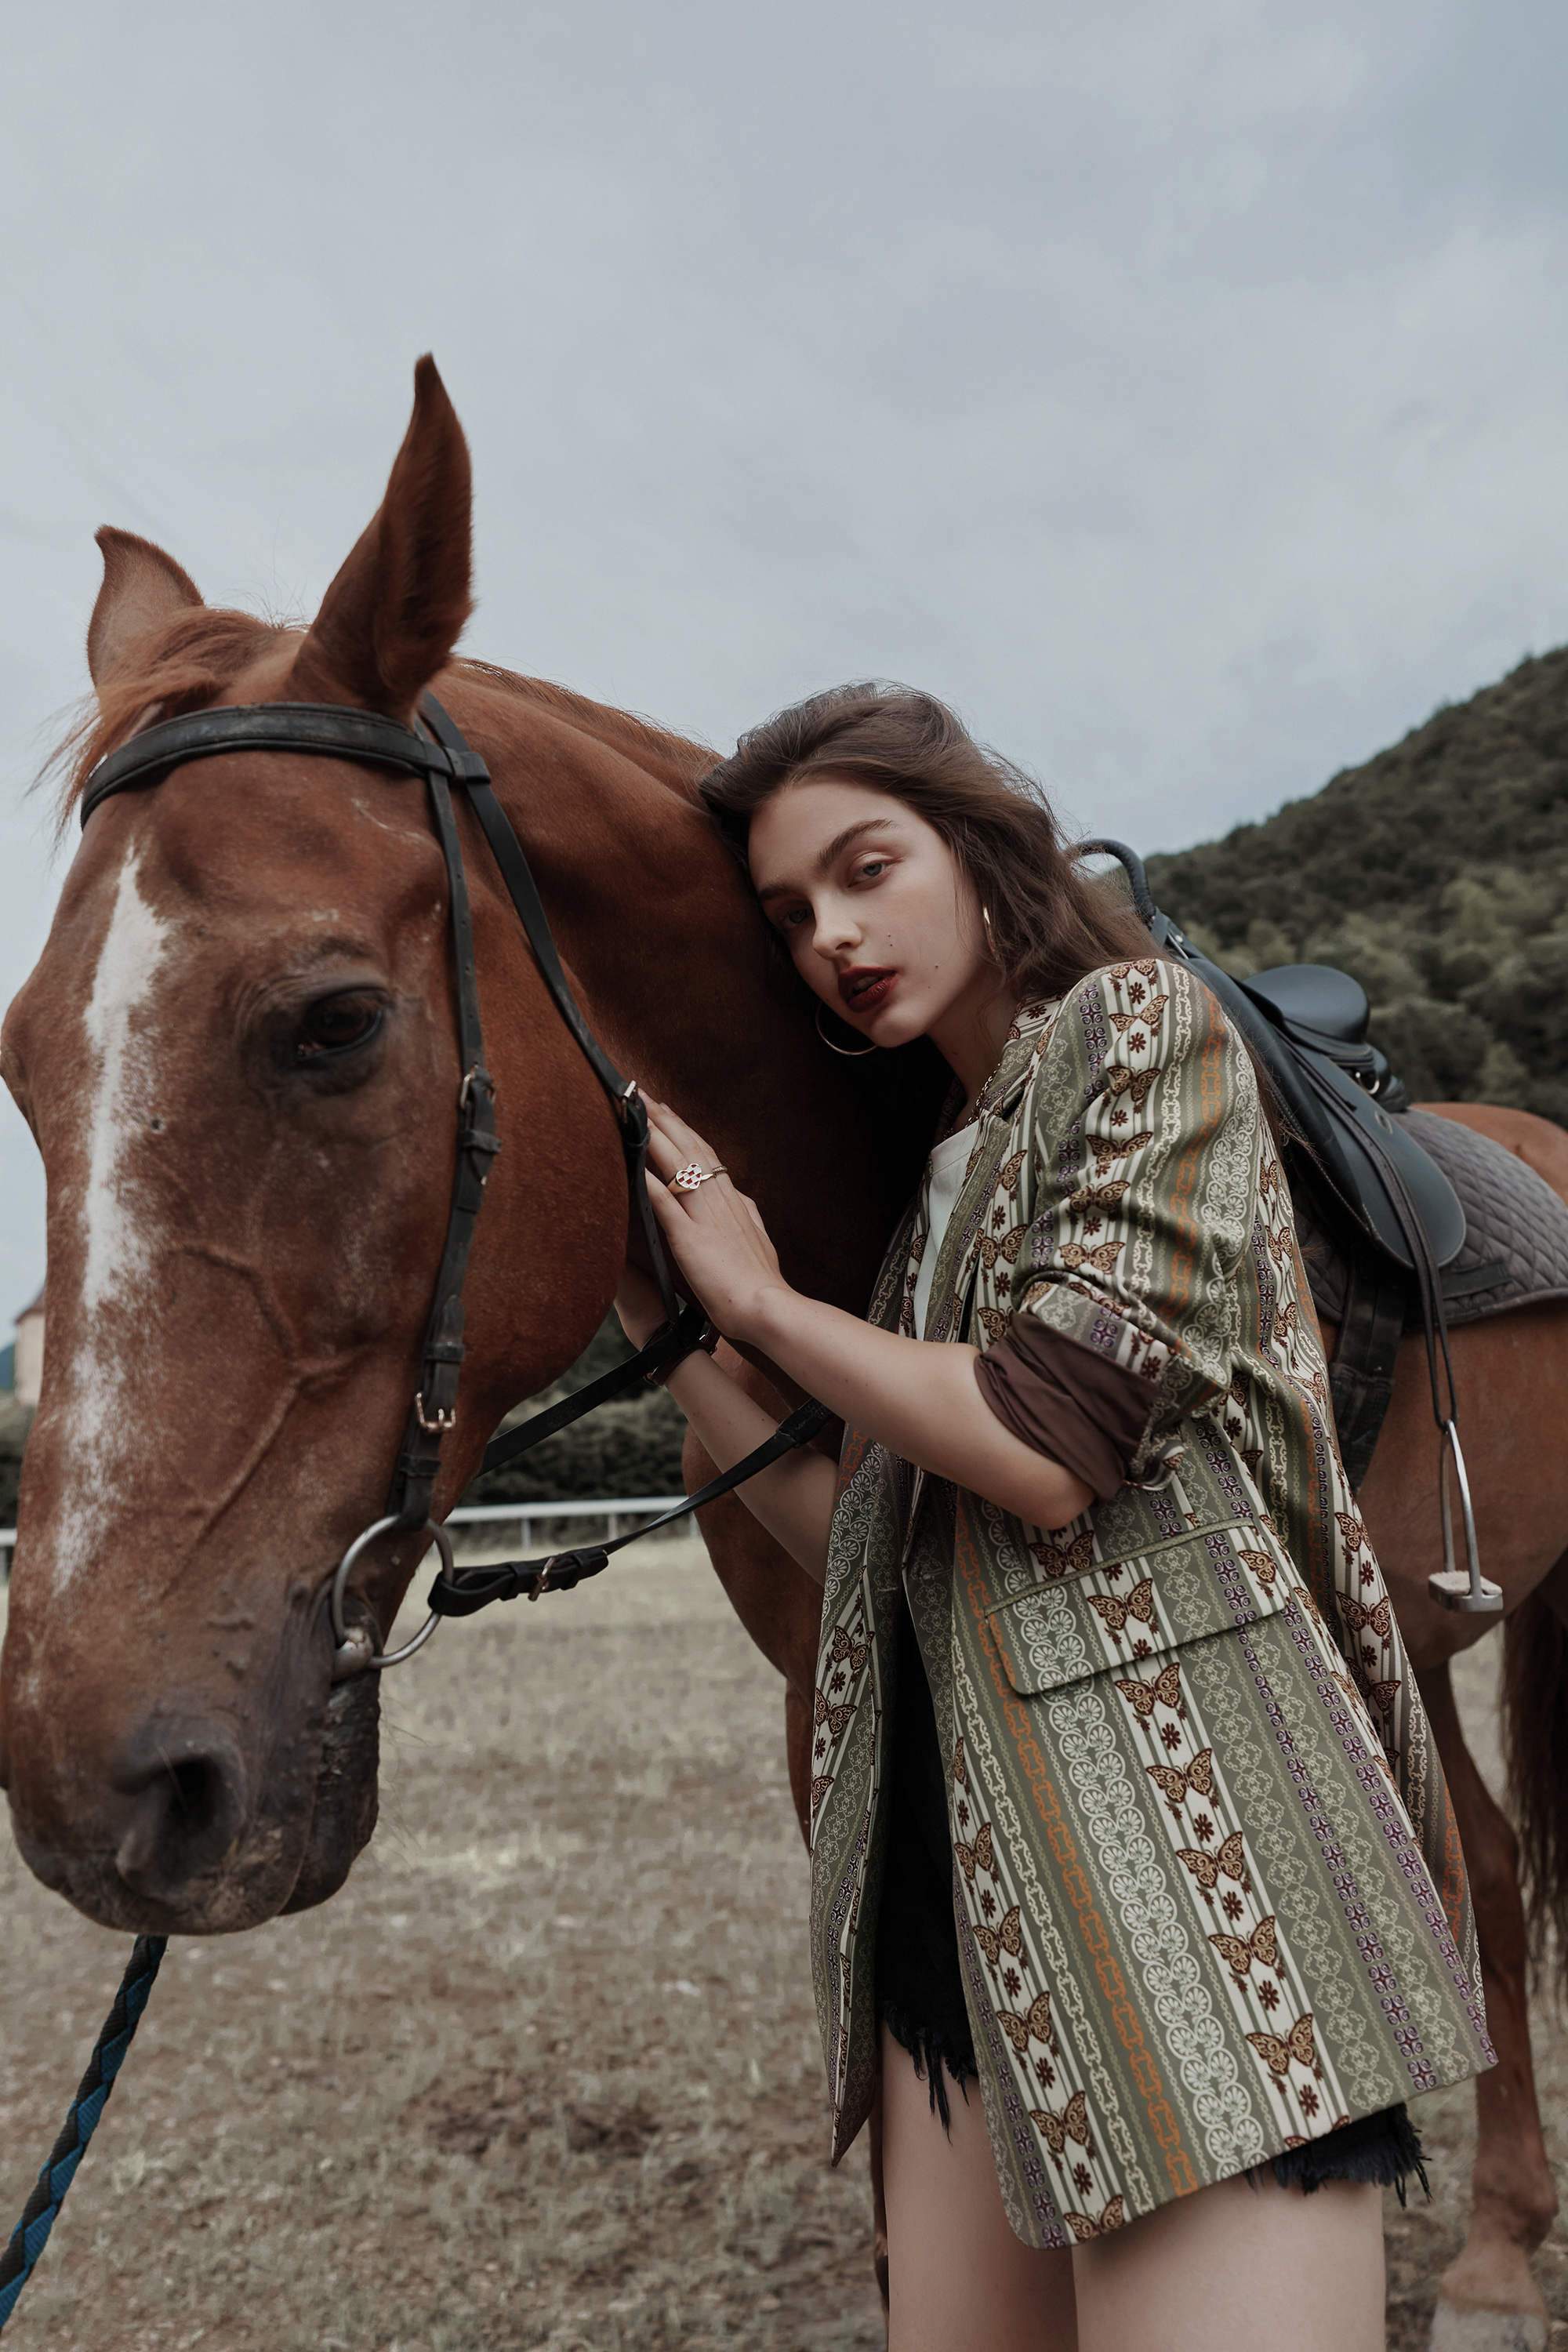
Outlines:
[[[872,1148],[853,1063],[823,1054],[811,1007],[780,985],[693,802],[705,750],[454,661],[468,515],[463,435],[421,362],[386,501],[308,630],[214,612],[160,548],[103,532],[96,703],[66,807],[89,762],[155,717],[301,699],[407,720],[437,684],[489,760],[614,1061],[717,1143],[788,1277],[860,1310],[936,1105],[910,1105],[898,1148]],[[628,1244],[609,1103],[463,809],[458,823],[503,1150],[437,1515],[503,1411],[581,1352]],[[49,1181],[49,1345],[0,1670],[16,1839],[106,1924],[252,1926],[341,1886],[376,1816],[376,1677],[334,1689],[327,1585],[381,1512],[451,1185],[447,884],[418,788],[235,753],[108,800],[7,1014],[0,1068]],[[1568,1197],[1568,1138],[1533,1122],[1512,1141]],[[1476,2216],[1443,2310],[1493,2328],[1467,2347],[1514,2345],[1542,2310],[1528,2253],[1554,2197],[1516,1844],[1448,1691],[1448,1658],[1493,1621],[1427,1599],[1434,1432],[1420,1348],[1406,1357],[1363,1501],[1462,1813],[1502,2051],[1479,2079]],[[797,1402],[776,1367],[726,1359],[778,1411]],[[1554,1729],[1568,1461],[1537,1442],[1568,1411],[1568,1315],[1455,1334],[1455,1374],[1483,1557],[1512,1611],[1509,1731],[1540,1929],[1568,1903]],[[710,1470],[693,1442],[684,1468],[691,1482]],[[785,1679],[802,1804],[818,1592],[733,1496],[703,1512],[703,1534]],[[407,1541],[378,1555],[383,1625],[414,1566]]]

